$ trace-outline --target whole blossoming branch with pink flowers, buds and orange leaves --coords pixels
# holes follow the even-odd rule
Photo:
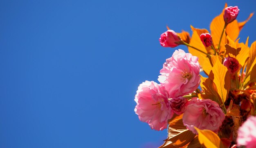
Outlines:
[[[157,131],[168,128],[159,148],[256,148],[256,41],[237,39],[253,13],[238,22],[239,11],[225,4],[211,33],[191,26],[190,37],[167,27],[160,36],[163,47],[183,44],[189,53],[175,50],[159,84],[145,81],[135,95],[139,120]]]

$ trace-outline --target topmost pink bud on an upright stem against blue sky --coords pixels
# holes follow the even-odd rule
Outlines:
[[[237,6],[235,7],[230,6],[225,8],[224,15],[223,15],[225,23],[229,24],[234,20],[236,20],[238,13],[239,13],[239,9]]]

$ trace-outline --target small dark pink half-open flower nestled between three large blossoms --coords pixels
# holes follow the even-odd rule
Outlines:
[[[176,113],[177,115],[180,115],[184,113],[185,106],[188,103],[188,99],[184,97],[172,98],[169,102],[173,112]]]

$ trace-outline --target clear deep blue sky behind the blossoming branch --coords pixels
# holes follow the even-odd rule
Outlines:
[[[256,11],[238,5],[238,21]],[[207,28],[225,1],[1,0],[0,148],[154,148],[134,113],[140,83],[156,81],[175,49],[166,25]],[[256,15],[240,33],[256,40]]]

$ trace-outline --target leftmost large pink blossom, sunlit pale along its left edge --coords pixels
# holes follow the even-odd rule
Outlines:
[[[134,100],[137,103],[134,111],[139,120],[148,123],[151,129],[157,131],[167,128],[167,121],[172,118],[173,111],[163,85],[154,81],[140,84]]]

